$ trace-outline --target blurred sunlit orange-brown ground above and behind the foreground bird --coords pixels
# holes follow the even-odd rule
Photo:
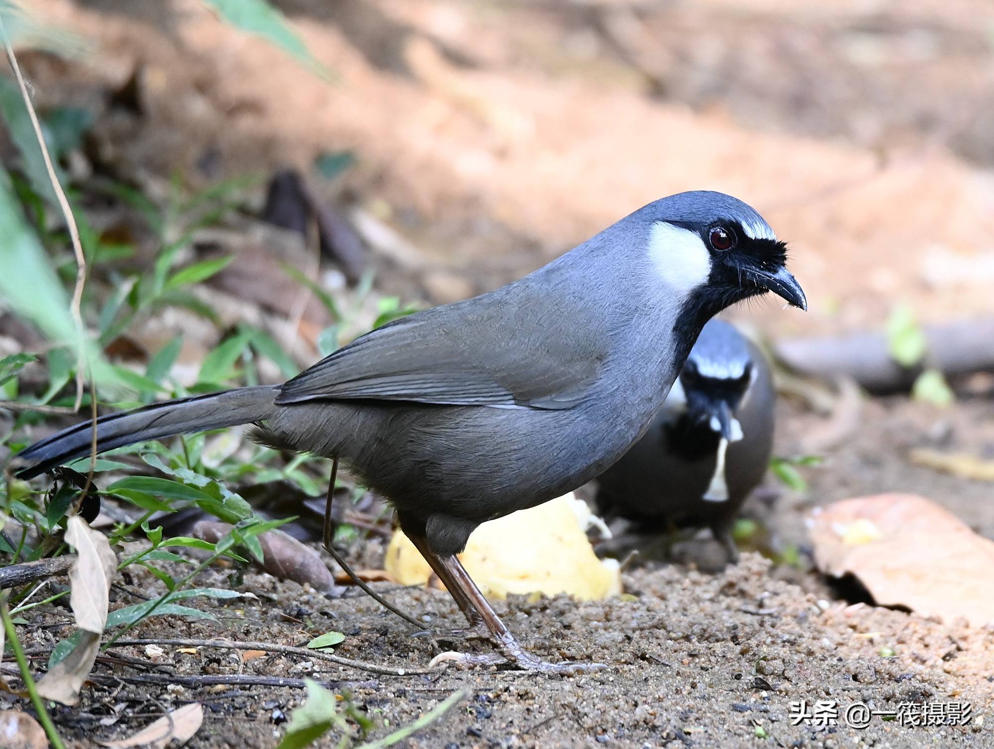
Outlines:
[[[336,84],[196,0],[50,0],[96,48],[29,68],[43,102],[103,110],[125,173],[206,183],[353,149],[351,200],[417,249],[385,277],[434,302],[716,189],[790,240],[811,312],[760,305],[778,330],[881,325],[901,299],[925,320],[991,309],[987,2],[277,5]],[[108,109],[136,73],[144,115]]]

